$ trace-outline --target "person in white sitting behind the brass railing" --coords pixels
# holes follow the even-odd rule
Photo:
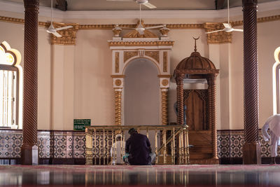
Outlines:
[[[125,148],[125,141],[123,141],[123,145],[122,145],[122,136],[121,136],[121,134],[117,134],[116,142],[113,143],[113,146],[111,147],[111,151],[110,151],[111,159],[113,160],[112,165],[123,164],[122,150],[124,150],[124,148]]]

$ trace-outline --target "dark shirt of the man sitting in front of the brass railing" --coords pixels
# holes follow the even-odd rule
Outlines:
[[[130,165],[148,165],[151,162],[150,141],[144,134],[134,133],[125,142],[125,153],[130,153]]]

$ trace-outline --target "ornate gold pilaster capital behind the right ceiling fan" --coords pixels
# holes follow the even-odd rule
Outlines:
[[[232,23],[231,23],[232,24]],[[206,32],[221,30],[225,28],[223,23],[204,23],[204,29]],[[214,32],[207,34],[208,43],[231,43],[232,42],[232,32]]]

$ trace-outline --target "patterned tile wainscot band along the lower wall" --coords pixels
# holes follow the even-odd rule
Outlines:
[[[112,137],[107,137],[107,132],[105,135],[105,141],[103,132],[97,132],[96,139],[95,136],[92,137],[94,158],[99,153],[104,156],[104,151],[105,155],[109,153]],[[263,140],[261,131],[259,135],[262,157],[269,157],[269,142]],[[0,130],[0,158],[20,158],[21,145],[22,131]],[[218,130],[217,145],[219,158],[242,157],[243,130]],[[40,131],[38,148],[40,158],[85,158],[85,132]]]

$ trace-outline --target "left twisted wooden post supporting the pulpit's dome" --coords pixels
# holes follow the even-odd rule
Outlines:
[[[184,74],[177,74],[176,84],[177,84],[177,124],[183,125],[183,76]]]

